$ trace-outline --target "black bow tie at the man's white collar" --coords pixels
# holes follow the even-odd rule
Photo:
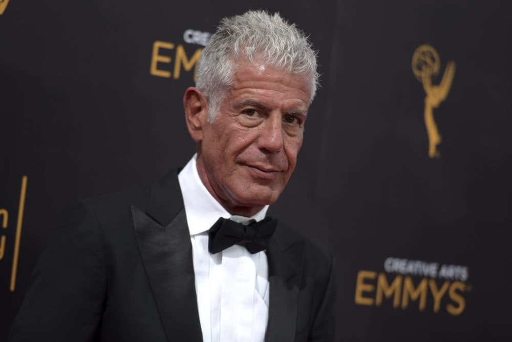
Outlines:
[[[277,225],[278,220],[271,217],[248,225],[221,217],[208,232],[208,251],[215,254],[233,245],[240,245],[251,254],[258,253],[267,248],[268,240]]]

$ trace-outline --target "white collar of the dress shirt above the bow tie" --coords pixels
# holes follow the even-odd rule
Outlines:
[[[197,153],[194,154],[178,174],[190,235],[207,231],[217,222],[219,217],[230,218],[232,216],[204,186],[197,172],[196,160]],[[247,219],[252,218],[256,221],[261,221],[265,218],[267,210],[268,206],[265,206],[256,214],[247,217]]]

